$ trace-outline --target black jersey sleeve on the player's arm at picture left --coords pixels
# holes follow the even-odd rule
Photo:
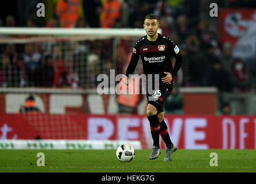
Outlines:
[[[125,74],[126,76],[129,77],[129,74],[134,73],[139,59],[140,59],[140,47],[138,46],[138,43],[135,43],[133,47],[133,53],[131,55],[130,63],[126,70],[126,74]]]

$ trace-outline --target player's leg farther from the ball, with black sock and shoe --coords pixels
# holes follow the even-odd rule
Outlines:
[[[157,114],[157,117],[159,118],[159,122],[160,122],[160,135],[167,147],[164,161],[171,161],[172,154],[177,150],[177,148],[170,139],[170,135],[168,133],[168,127],[164,122],[164,112]]]

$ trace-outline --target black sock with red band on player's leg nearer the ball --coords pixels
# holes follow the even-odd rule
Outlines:
[[[150,130],[151,135],[153,139],[153,145],[156,147],[160,147],[159,144],[159,135],[160,135],[160,124],[157,115],[148,116],[149,124],[150,124]]]

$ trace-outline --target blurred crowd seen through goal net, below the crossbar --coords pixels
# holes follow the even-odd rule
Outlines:
[[[97,75],[108,74],[113,67],[112,55],[104,52],[112,41],[54,38],[43,43],[0,44],[0,86],[96,88]]]

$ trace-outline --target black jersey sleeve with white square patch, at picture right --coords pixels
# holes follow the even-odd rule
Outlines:
[[[172,78],[177,74],[179,68],[182,66],[182,55],[180,53],[179,47],[170,39],[169,48],[171,55],[175,57],[176,62],[174,68],[171,70]]]

